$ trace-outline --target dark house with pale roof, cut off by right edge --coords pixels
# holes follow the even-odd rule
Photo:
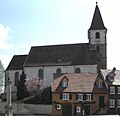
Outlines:
[[[113,70],[102,70],[108,88],[107,114],[120,114],[120,70]]]

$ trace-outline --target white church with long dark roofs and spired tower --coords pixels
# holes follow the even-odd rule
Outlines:
[[[32,46],[27,55],[13,56],[6,69],[12,81],[12,93],[16,96],[22,70],[27,78],[42,79],[45,86],[50,86],[54,73],[97,73],[99,69],[106,69],[106,35],[107,28],[96,4],[88,29],[88,43]]]

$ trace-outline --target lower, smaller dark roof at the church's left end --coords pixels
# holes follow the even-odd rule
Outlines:
[[[27,55],[14,55],[6,70],[22,70]]]

